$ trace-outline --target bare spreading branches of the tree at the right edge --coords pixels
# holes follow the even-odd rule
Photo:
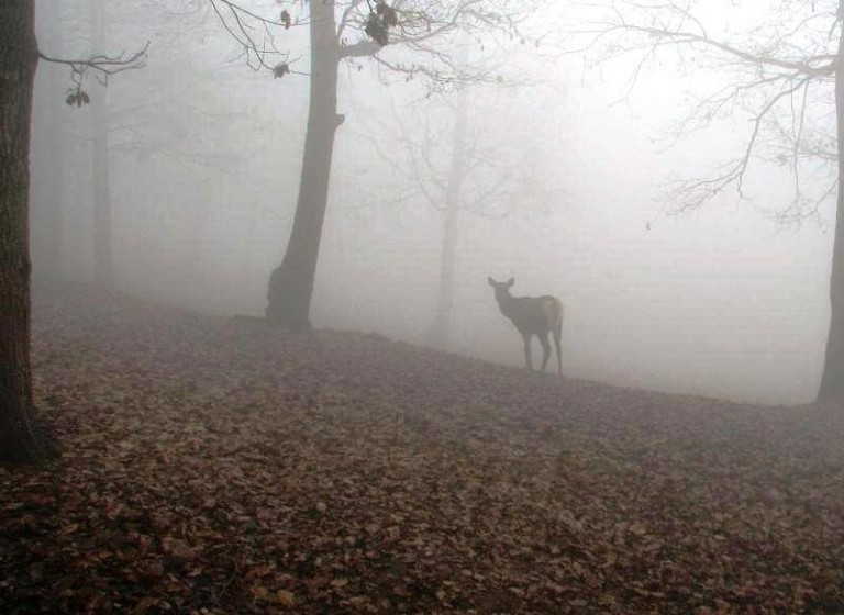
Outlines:
[[[638,54],[624,97],[637,83],[643,68],[656,64],[657,54],[664,51],[675,52],[684,69],[709,67],[720,74],[729,71],[735,78],[690,110],[679,123],[670,145],[675,146],[681,136],[692,131],[710,126],[715,119],[741,112],[751,115],[751,130],[743,152],[710,176],[669,185],[660,200],[670,211],[700,206],[731,186],[735,186],[738,197],[744,198],[746,176],[754,158],[779,165],[788,163],[793,198],[786,211],[817,209],[817,199],[824,199],[828,193],[824,191],[814,199],[806,193],[804,167],[812,152],[824,156],[824,165],[831,157],[829,148],[817,143],[809,146],[804,136],[812,102],[829,102],[823,98],[828,88],[812,86],[829,85],[835,76],[837,35],[832,34],[834,29],[841,27],[840,16],[836,12],[814,10],[811,14],[800,15],[791,12],[801,8],[800,4],[782,5],[780,10],[785,14],[775,15],[777,19],[771,18],[770,24],[760,24],[748,32],[744,43],[736,43],[728,40],[729,33],[711,34],[692,14],[690,7],[691,3],[680,0],[591,3],[589,8],[597,11],[597,19],[586,22],[585,27],[581,22],[570,29],[576,40],[585,37],[586,42],[575,44],[566,53],[584,53],[587,60],[598,65]],[[784,16],[792,18],[790,25],[781,25]],[[695,60],[698,62],[692,64]],[[788,118],[789,131],[782,128],[780,118]],[[817,114],[812,120],[818,121]],[[768,139],[763,137],[764,133],[775,136]],[[788,147],[779,148],[777,157],[771,159],[766,153],[776,147],[777,138]]]

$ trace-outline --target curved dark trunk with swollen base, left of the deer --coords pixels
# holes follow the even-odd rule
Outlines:
[[[308,132],[293,228],[287,253],[269,279],[267,318],[302,333],[311,329],[309,312],[322,224],[329,197],[337,115],[337,64],[334,1],[311,2],[311,91]]]

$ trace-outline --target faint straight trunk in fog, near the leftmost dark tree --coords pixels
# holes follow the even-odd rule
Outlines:
[[[91,20],[91,48],[106,48],[106,31],[101,0],[89,0]],[[109,180],[109,120],[107,118],[107,89],[91,83],[91,160],[93,183],[93,282],[114,286],[114,260],[111,246],[111,185]]]

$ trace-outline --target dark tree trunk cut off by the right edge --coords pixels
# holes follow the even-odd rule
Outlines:
[[[839,19],[844,16],[844,1],[839,4]],[[826,360],[818,401],[844,403],[844,31],[840,34],[835,63],[835,116],[839,138],[839,202],[835,237],[832,244],[830,304],[832,317],[826,338]]]

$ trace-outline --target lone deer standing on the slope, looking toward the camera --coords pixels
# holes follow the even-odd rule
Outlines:
[[[491,277],[487,278],[489,286],[496,291],[496,301],[501,313],[510,318],[524,339],[524,361],[529,370],[533,370],[531,358],[531,339],[535,335],[542,344],[542,371],[551,357],[551,343],[548,334],[554,337],[554,347],[557,350],[557,373],[563,374],[563,364],[559,356],[559,340],[563,336],[563,303],[556,297],[544,294],[542,297],[513,297],[510,289],[515,283],[514,278],[506,282],[497,282]]]

